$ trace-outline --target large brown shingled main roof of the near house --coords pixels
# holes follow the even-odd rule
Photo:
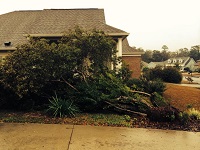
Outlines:
[[[27,42],[25,35],[61,34],[77,25],[111,36],[128,36],[127,32],[106,24],[103,9],[14,11],[0,15],[0,49],[5,48],[5,42],[11,42],[10,48]]]

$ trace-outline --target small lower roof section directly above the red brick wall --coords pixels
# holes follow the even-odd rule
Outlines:
[[[138,51],[135,48],[131,47],[128,43],[127,38],[125,38],[122,42],[122,52],[123,55],[141,55],[144,54],[142,51]]]

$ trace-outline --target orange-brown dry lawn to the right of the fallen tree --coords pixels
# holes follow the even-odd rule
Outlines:
[[[170,101],[172,106],[182,111],[184,111],[188,105],[200,110],[200,89],[167,84],[164,97]]]

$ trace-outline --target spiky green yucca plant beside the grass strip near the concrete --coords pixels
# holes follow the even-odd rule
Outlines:
[[[74,117],[79,112],[73,101],[59,98],[57,95],[49,99],[49,102],[47,112],[50,112],[54,117]]]

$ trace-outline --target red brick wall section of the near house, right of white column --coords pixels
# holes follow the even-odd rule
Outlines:
[[[141,56],[122,56],[122,60],[129,65],[129,69],[133,71],[132,78],[139,78],[141,74]]]

